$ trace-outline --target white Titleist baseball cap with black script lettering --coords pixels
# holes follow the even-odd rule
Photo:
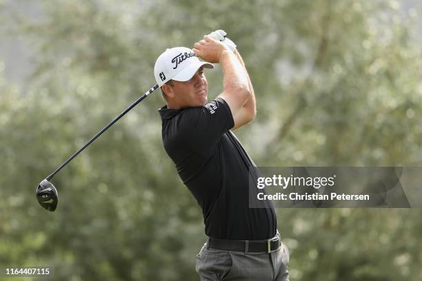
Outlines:
[[[199,67],[214,68],[214,65],[199,61],[192,50],[175,47],[165,50],[154,65],[155,81],[159,87],[170,80],[188,81],[199,70]]]

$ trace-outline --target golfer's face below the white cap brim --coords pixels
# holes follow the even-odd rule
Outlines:
[[[172,107],[199,107],[208,101],[208,81],[203,67],[188,81],[172,81]]]

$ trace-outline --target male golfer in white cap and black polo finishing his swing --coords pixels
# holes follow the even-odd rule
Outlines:
[[[216,40],[217,39],[217,40]],[[203,59],[203,62],[199,61]],[[208,102],[204,68],[220,63],[223,92]],[[165,151],[202,208],[209,237],[197,255],[201,280],[289,280],[288,249],[272,205],[249,207],[257,168],[230,129],[256,114],[252,83],[236,45],[217,30],[159,56],[154,75],[167,105],[159,110]]]

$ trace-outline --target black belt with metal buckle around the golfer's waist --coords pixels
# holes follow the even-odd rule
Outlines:
[[[279,249],[281,240],[279,233],[268,240],[224,240],[209,238],[207,247],[217,250],[244,251],[245,253],[271,253]]]

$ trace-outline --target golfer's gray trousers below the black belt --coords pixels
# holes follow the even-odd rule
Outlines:
[[[281,242],[271,253],[247,253],[211,249],[207,243],[197,254],[197,273],[201,281],[289,281],[289,251]]]

